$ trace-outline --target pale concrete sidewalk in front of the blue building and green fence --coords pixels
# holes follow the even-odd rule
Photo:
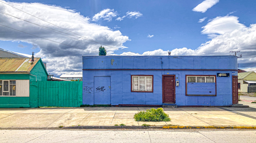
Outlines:
[[[256,126],[256,120],[219,108],[164,108],[169,122],[136,122],[133,115],[150,107],[0,109],[0,127],[75,125]],[[225,108],[256,117],[255,108]],[[242,111],[240,111],[242,110]]]

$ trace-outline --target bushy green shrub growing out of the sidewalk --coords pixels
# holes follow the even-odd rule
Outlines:
[[[164,113],[163,108],[151,108],[147,109],[147,111],[140,111],[134,115],[135,121],[142,121],[142,122],[147,122],[147,121],[170,121],[171,119],[169,118],[169,115]]]

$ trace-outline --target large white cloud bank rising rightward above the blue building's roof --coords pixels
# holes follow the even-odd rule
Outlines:
[[[217,17],[218,20],[222,17]],[[208,25],[206,27],[207,33],[218,33],[210,41],[202,43],[197,49],[187,49],[186,47],[180,49],[174,49],[171,52],[171,55],[229,55],[230,51],[238,50],[241,51],[242,57],[238,58],[238,63],[256,61],[256,24],[251,24],[250,27],[245,27],[242,24],[238,23],[237,17],[227,17],[228,20],[234,22],[233,28],[226,27],[226,22],[217,22],[212,25],[217,29],[216,31],[209,30],[211,27]],[[235,20],[233,20],[235,19]],[[213,22],[216,22],[212,20]],[[212,22],[211,21],[211,22]],[[224,20],[226,21],[226,20]],[[218,28],[225,27],[225,28]],[[223,26],[222,26],[223,25]],[[237,26],[238,25],[238,26]],[[232,24],[231,24],[232,26]],[[218,30],[221,29],[221,30]],[[159,51],[161,51],[159,54]],[[167,55],[168,51],[163,51],[158,49],[155,51],[144,52],[143,55]]]

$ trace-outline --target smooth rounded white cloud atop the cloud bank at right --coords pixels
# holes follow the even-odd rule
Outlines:
[[[238,21],[236,16],[218,16],[210,20],[206,26],[203,26],[202,34],[208,34],[210,38],[216,37],[217,34],[224,34],[235,29],[242,29],[245,26]]]

